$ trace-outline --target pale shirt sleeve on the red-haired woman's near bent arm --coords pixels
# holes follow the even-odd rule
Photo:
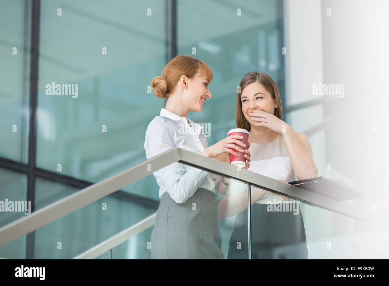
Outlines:
[[[145,151],[147,160],[174,148],[172,130],[166,124],[151,121],[146,130]],[[170,197],[182,204],[192,197],[209,172],[198,168],[184,168],[182,163],[172,163],[154,172],[154,176],[166,189]]]

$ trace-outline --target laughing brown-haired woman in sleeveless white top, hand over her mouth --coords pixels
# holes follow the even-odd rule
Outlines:
[[[251,162],[247,170],[280,181],[291,182],[317,176],[308,137],[294,132],[282,118],[280,94],[273,79],[261,72],[246,74],[237,94],[237,128],[249,131]],[[224,154],[218,160],[224,160]],[[230,183],[230,180],[226,180]],[[237,187],[238,186],[238,187]],[[235,187],[235,189],[234,189]],[[234,195],[245,191],[245,184],[234,182],[228,188],[228,197],[219,204],[219,218],[231,216],[236,201]],[[240,191],[239,191],[240,189]],[[247,196],[245,196],[247,197]],[[307,258],[307,242],[303,217],[298,202],[268,191],[252,188],[252,258]],[[247,205],[247,199],[246,199]],[[282,211],[274,211],[277,204]],[[293,205],[285,211],[285,204]],[[243,206],[244,204],[242,204]],[[237,209],[233,207],[232,209]],[[239,247],[237,247],[237,244]],[[277,247],[288,247],[288,255],[275,256]],[[247,207],[235,218],[230,238],[228,259],[247,257]]]

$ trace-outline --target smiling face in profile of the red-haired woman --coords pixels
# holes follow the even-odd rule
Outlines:
[[[205,75],[199,75],[199,73],[193,79],[188,80],[188,87],[184,89],[184,92],[187,93],[185,98],[189,111],[202,111],[205,100],[212,96],[209,91],[208,79]]]

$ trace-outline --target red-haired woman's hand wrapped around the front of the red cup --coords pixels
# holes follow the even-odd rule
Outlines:
[[[240,136],[240,135],[228,136],[227,138],[220,140],[216,144],[209,146],[201,154],[204,156],[210,157],[210,158],[215,158],[215,157],[217,157],[220,154],[225,153],[225,152],[234,154],[235,156],[238,156],[238,154],[235,151],[233,151],[232,149],[235,149],[235,150],[242,152],[242,153],[245,153],[245,149],[248,149],[248,147],[243,142],[238,140],[238,139],[243,139],[243,138],[244,137]],[[236,146],[235,144],[242,146],[242,148],[245,148],[245,149],[242,149],[242,148]]]

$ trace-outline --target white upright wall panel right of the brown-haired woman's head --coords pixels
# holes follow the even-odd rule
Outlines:
[[[325,43],[323,22],[326,17],[322,17],[322,9],[319,1],[299,2],[298,5],[293,1],[284,1],[285,101],[288,106],[323,97],[321,91],[313,91],[314,84],[338,83],[327,82],[327,74],[324,75],[324,66],[328,66],[328,60],[323,60],[323,53],[327,54],[324,47],[332,46],[330,43],[334,40],[328,39],[328,44]],[[334,26],[336,34],[335,29]]]

